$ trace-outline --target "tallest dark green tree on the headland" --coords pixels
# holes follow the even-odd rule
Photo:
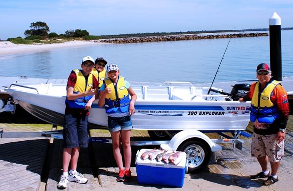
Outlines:
[[[49,26],[45,22],[42,22],[42,21],[32,22],[29,27],[31,27],[32,29],[26,30],[24,32],[24,35],[27,37],[29,36],[46,37],[48,36],[48,32],[50,31]]]

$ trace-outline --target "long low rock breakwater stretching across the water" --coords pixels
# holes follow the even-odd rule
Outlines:
[[[168,35],[168,36],[151,36],[151,37],[128,37],[115,39],[101,39],[96,42],[108,43],[137,43],[137,42],[160,42],[160,41],[183,41],[183,40],[200,40],[200,39],[222,39],[222,38],[243,38],[243,37],[260,37],[268,36],[268,33],[238,33],[238,34],[219,34],[219,35]]]

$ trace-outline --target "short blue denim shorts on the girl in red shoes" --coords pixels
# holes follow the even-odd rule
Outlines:
[[[110,132],[119,130],[130,130],[132,129],[131,116],[125,117],[110,117],[108,116],[108,127]]]

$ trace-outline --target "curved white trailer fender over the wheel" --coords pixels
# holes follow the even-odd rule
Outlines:
[[[177,150],[177,148],[186,140],[191,138],[200,138],[209,144],[209,147],[212,152],[222,150],[222,147],[218,144],[213,143],[207,135],[204,133],[195,130],[195,129],[186,129],[177,133],[168,144],[162,144],[161,148],[165,150]]]

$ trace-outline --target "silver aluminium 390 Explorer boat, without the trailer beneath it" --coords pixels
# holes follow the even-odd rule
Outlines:
[[[132,116],[134,129],[225,132],[244,130],[249,123],[250,102],[233,101],[216,92],[207,95],[209,87],[178,82],[131,86],[138,97]],[[63,126],[65,84],[15,83],[5,91],[32,115]],[[88,122],[90,127],[107,127],[105,109],[99,108],[97,101],[92,105]]]

